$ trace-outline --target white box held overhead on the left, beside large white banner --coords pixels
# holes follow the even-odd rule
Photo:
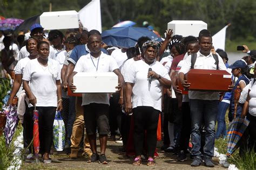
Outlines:
[[[79,28],[79,14],[77,11],[44,12],[40,24],[45,30]]]

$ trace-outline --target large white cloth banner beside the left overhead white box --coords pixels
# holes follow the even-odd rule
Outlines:
[[[102,32],[102,17],[100,15],[100,0],[92,0],[79,12],[80,22],[84,28]]]

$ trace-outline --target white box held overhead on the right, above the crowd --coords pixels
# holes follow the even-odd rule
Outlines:
[[[172,29],[172,35],[198,37],[201,30],[207,29],[207,24],[203,21],[173,20],[167,24],[167,29]]]

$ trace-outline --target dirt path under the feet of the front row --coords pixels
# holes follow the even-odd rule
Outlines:
[[[158,142],[158,148],[162,142]],[[185,162],[177,162],[176,155],[159,151],[159,158],[156,159],[157,165],[147,167],[147,162],[143,162],[142,166],[136,167],[132,165],[133,158],[127,158],[125,153],[119,152],[118,149],[122,144],[117,144],[114,141],[107,141],[106,157],[109,160],[109,165],[101,165],[98,163],[87,163],[88,158],[82,157],[82,153],[78,154],[78,159],[69,159],[65,152],[55,152],[51,155],[53,162],[51,164],[30,164],[23,162],[22,169],[224,169],[218,164],[218,159],[213,158],[215,167],[207,168],[203,165],[194,168],[191,167],[189,157]],[[99,151],[99,146],[98,146]]]

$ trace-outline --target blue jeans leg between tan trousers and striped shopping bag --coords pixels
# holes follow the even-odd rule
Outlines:
[[[76,119],[76,97],[70,96],[69,97],[69,120],[68,120],[68,144],[71,145],[71,134],[73,129],[73,124]]]

